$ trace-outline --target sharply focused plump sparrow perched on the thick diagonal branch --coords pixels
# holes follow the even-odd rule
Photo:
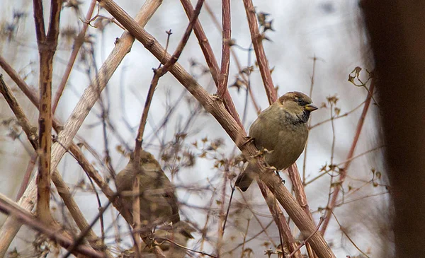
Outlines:
[[[310,112],[317,110],[312,100],[297,91],[286,93],[266,108],[249,128],[249,137],[259,151],[266,149],[264,159],[277,170],[285,170],[295,163],[307,142],[307,121]],[[243,192],[256,177],[252,161],[239,174],[236,186]]]

